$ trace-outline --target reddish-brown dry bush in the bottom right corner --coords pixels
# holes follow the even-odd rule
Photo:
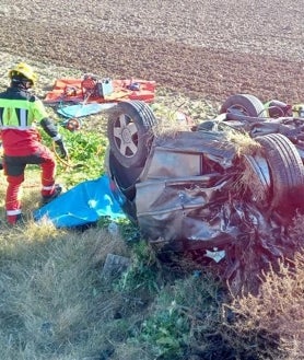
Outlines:
[[[235,316],[225,324],[233,348],[247,355],[258,351],[259,359],[302,359],[303,279],[304,256],[299,253],[289,265],[281,263],[279,271],[265,274],[258,295],[235,298],[225,307]]]

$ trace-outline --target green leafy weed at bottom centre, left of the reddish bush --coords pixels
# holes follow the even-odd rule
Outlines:
[[[163,287],[130,341],[149,348],[156,359],[186,359],[219,324],[218,290],[209,280],[190,275]]]

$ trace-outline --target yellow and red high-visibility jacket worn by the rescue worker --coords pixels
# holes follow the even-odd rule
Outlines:
[[[11,86],[0,93],[0,130],[4,154],[22,156],[38,151],[38,124],[55,141],[60,138],[37,96],[20,86]]]

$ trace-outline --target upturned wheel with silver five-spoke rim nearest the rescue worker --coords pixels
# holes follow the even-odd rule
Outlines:
[[[110,111],[107,125],[110,151],[122,166],[144,164],[153,139],[151,128],[155,124],[151,107],[141,101],[121,102]]]

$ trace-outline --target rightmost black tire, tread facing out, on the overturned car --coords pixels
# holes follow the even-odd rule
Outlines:
[[[270,133],[255,140],[262,146],[270,170],[270,208],[303,208],[304,165],[295,146],[281,133]]]

